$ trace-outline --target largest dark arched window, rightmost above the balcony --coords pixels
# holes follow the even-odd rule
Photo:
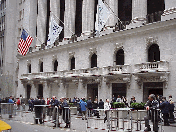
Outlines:
[[[160,50],[157,44],[152,44],[148,48],[148,62],[160,61]]]

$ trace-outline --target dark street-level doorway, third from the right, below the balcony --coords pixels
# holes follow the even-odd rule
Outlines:
[[[87,98],[91,97],[92,101],[98,98],[98,84],[87,84]]]

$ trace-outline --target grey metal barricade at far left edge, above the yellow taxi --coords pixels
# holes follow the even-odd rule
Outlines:
[[[1,103],[1,118],[3,118],[2,115],[9,115],[9,119],[12,118],[12,115],[15,115],[15,106],[14,103]]]

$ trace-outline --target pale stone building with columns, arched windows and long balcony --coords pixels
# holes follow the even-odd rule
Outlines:
[[[50,47],[36,40],[38,47],[17,55],[17,96],[105,101],[120,95],[145,102],[153,93],[176,99],[175,0],[104,0],[111,15],[98,35],[98,0],[49,2],[38,1],[31,32],[45,42],[51,12],[63,30]]]

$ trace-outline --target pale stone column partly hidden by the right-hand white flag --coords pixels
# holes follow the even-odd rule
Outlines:
[[[112,15],[109,16],[106,27],[114,27],[115,24],[118,22],[118,0],[105,0],[105,5],[111,13],[112,11],[114,12],[112,13]]]

